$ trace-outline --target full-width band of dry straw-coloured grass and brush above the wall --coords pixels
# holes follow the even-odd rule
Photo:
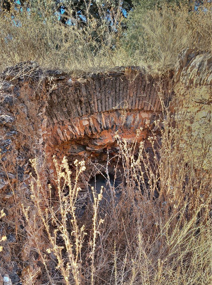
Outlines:
[[[90,16],[87,3],[87,23],[80,24],[67,11],[70,22],[63,25],[58,15],[51,15],[38,1],[39,9],[0,15],[0,69],[18,62],[35,60],[44,68],[59,68],[74,74],[104,72],[115,66],[136,65],[149,72],[160,73],[173,68],[177,55],[184,48],[211,49],[211,3],[204,0],[198,13],[183,1],[179,6],[150,10],[141,14],[139,6],[127,20],[122,31],[120,9],[113,11],[114,23],[108,26],[106,14],[99,3],[102,22]],[[47,5],[47,4],[46,4]],[[48,1],[52,7],[53,1]],[[55,8],[56,10],[56,8]],[[131,21],[132,17],[132,21]]]

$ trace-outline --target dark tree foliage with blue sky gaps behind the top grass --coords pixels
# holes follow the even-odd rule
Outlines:
[[[67,24],[69,19],[74,17],[82,26],[86,25],[88,17],[93,17],[99,22],[101,22],[102,17],[106,17],[111,25],[111,22],[114,21],[113,11],[120,10],[122,14],[123,12],[126,14],[132,8],[132,0],[19,0],[20,3],[17,3],[17,0],[0,1],[1,8],[8,12],[11,11],[14,5],[16,9],[27,7],[32,10],[39,10],[44,7],[48,9],[49,14],[58,13],[60,15],[59,21],[63,24]]]

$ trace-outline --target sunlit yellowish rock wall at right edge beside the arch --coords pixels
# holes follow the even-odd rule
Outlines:
[[[175,68],[177,127],[184,132],[181,149],[193,156],[195,168],[211,171],[211,52],[186,49]],[[173,111],[173,110],[172,110]],[[204,159],[203,165],[200,161]]]

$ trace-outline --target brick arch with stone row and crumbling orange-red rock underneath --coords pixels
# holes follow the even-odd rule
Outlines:
[[[164,91],[166,101],[170,95],[165,84],[165,78],[155,79],[139,72],[57,82],[48,97],[43,130],[49,166],[52,154],[59,160],[67,156],[70,164],[75,159],[85,160],[87,172],[92,172],[89,163],[106,166],[107,159],[113,158],[116,164],[117,131],[121,139],[132,142],[137,129],[142,128],[139,141],[146,141],[148,148],[147,137],[154,121],[162,119],[158,92],[160,88]],[[80,186],[83,189],[82,183]]]

